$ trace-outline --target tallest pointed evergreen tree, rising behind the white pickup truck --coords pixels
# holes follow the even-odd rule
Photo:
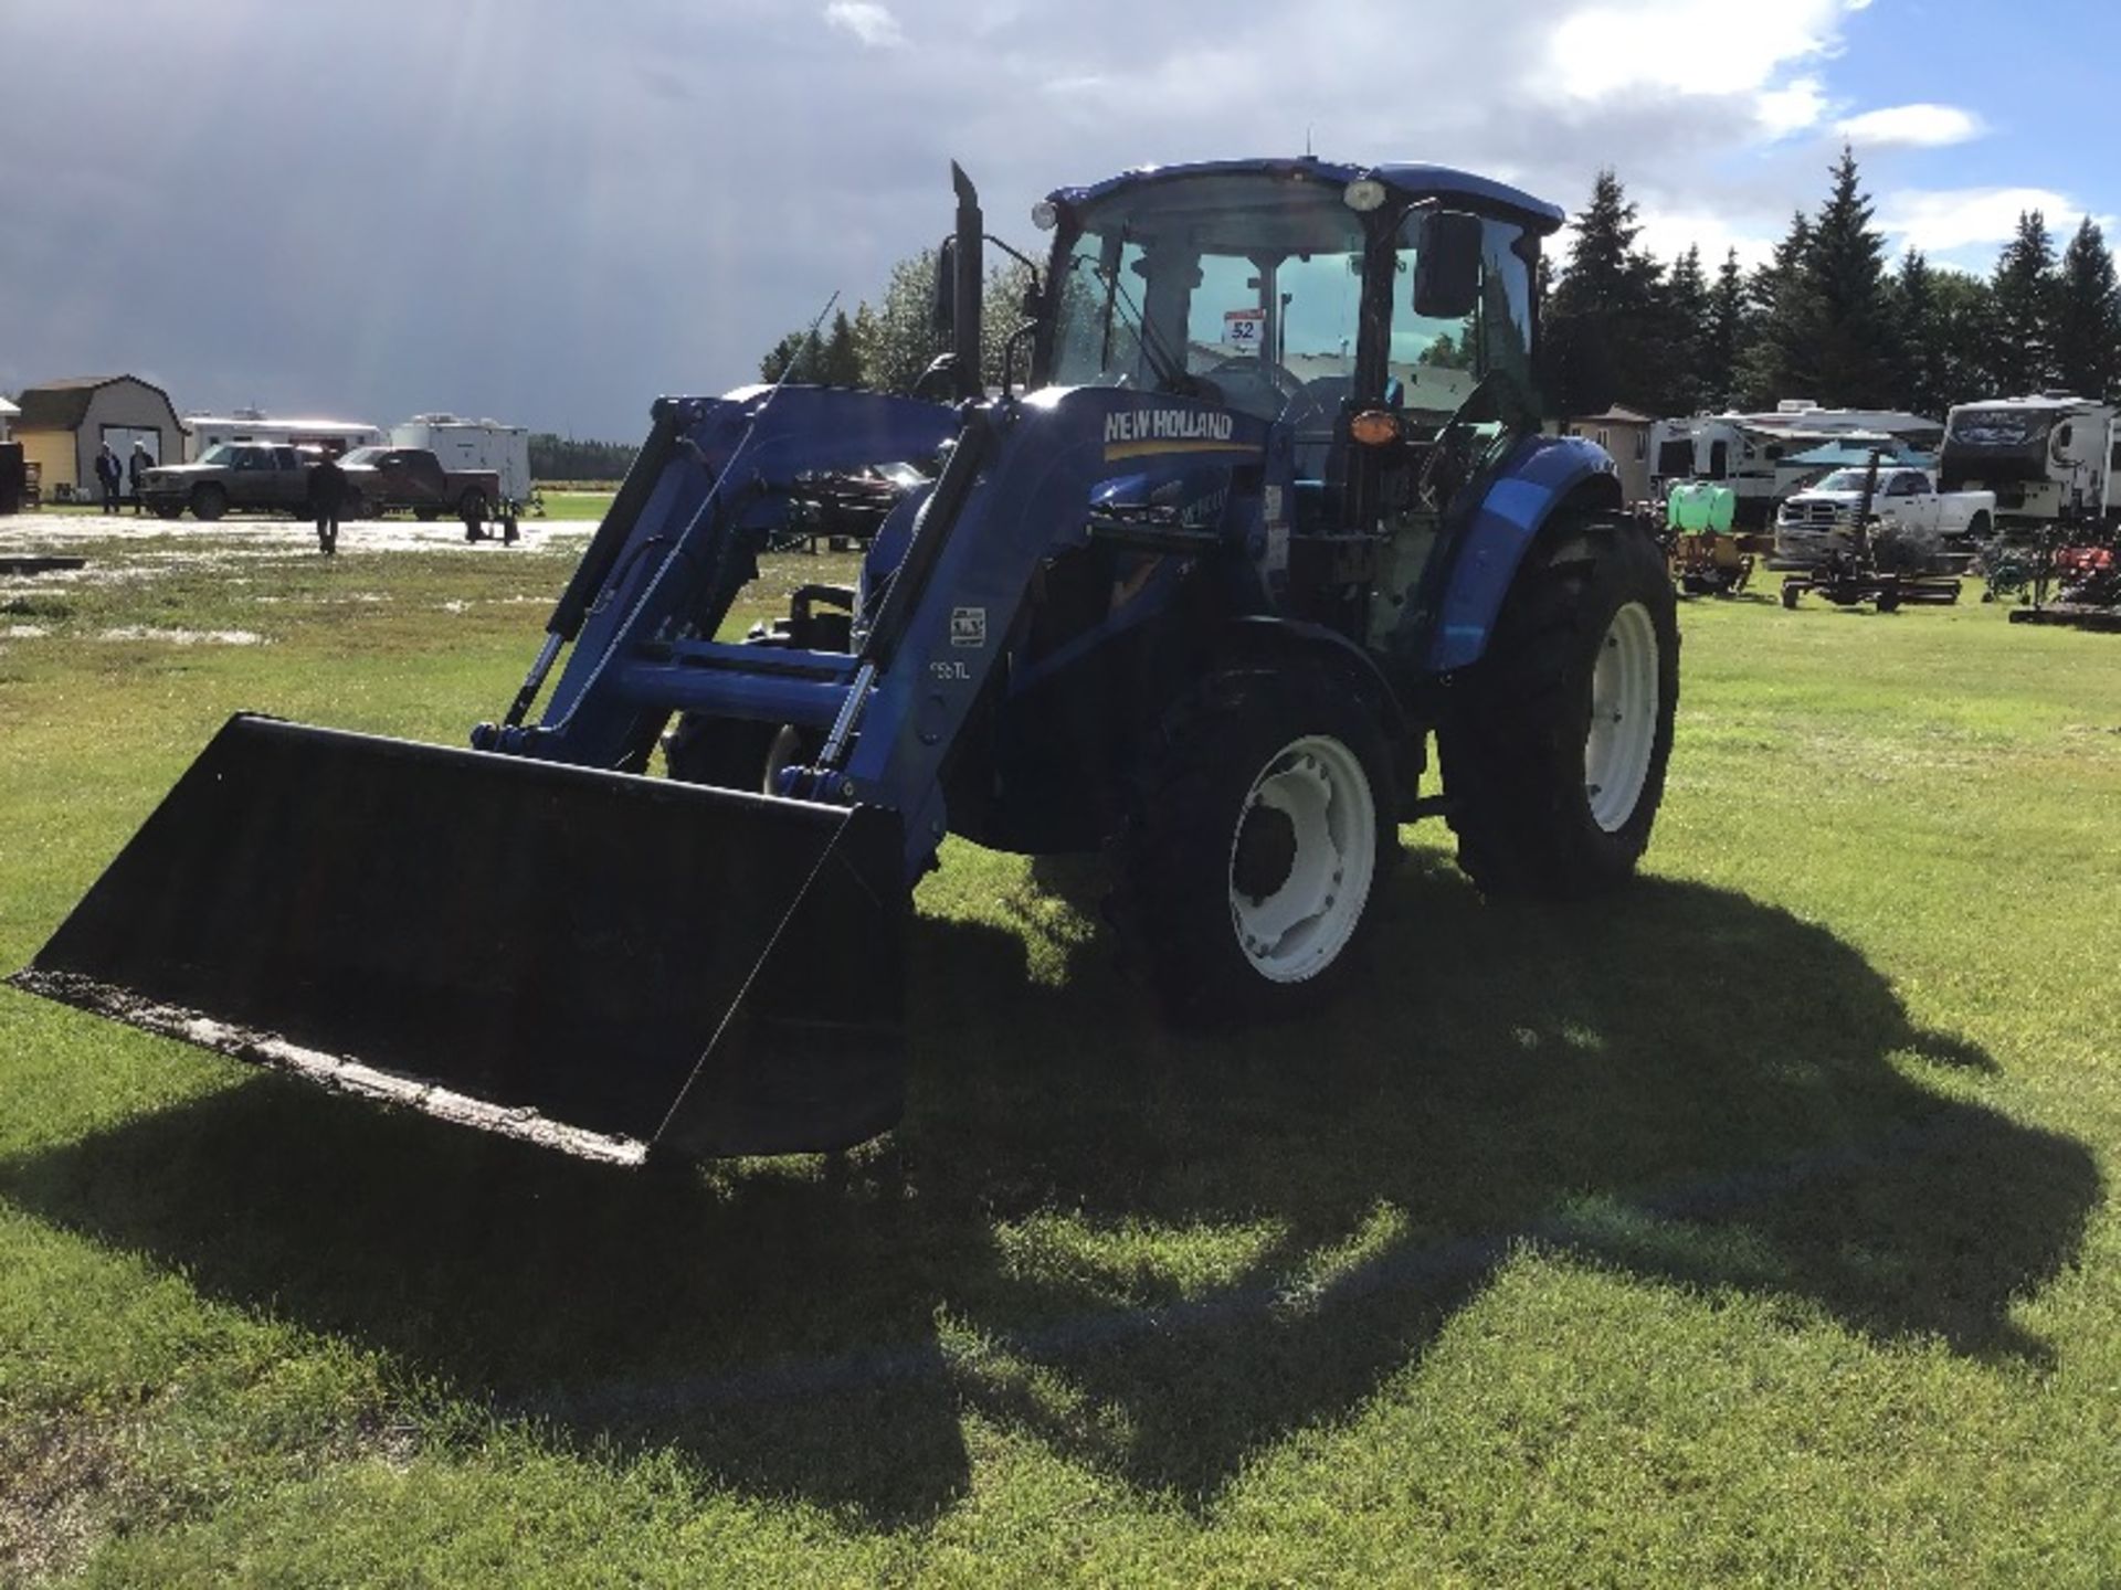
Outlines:
[[[1886,240],[1871,225],[1856,151],[1843,146],[1835,187],[1811,223],[1807,305],[1788,326],[1790,373],[1809,377],[1826,407],[1877,409],[1894,399],[1894,326],[1886,301]]]

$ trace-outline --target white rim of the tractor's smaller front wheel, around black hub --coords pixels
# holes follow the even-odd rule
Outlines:
[[[1287,878],[1262,897],[1239,886],[1239,840],[1254,808],[1287,818]],[[1334,962],[1355,935],[1377,876],[1377,797],[1362,759],[1338,740],[1307,736],[1268,759],[1230,831],[1230,926],[1268,982],[1300,984]]]

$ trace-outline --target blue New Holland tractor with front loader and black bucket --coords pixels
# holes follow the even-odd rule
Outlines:
[[[1311,157],[1060,189],[993,394],[954,176],[940,392],[658,401],[471,748],[231,719],[15,982],[638,1164],[899,1117],[950,833],[1107,852],[1130,960],[1207,1024],[1360,977],[1406,820],[1487,895],[1627,880],[1676,604],[1612,460],[1540,430],[1561,210]],[[732,636],[806,483],[904,460],[940,475],[859,583]]]

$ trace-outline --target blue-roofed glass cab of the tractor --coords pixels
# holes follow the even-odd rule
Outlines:
[[[1383,528],[1453,418],[1491,443],[1538,416],[1531,280],[1561,212],[1514,189],[1224,161],[1063,189],[1035,218],[1054,244],[1033,382],[1285,426],[1298,534]]]

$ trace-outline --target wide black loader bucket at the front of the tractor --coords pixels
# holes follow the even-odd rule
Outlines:
[[[899,818],[235,717],[11,982],[596,1160],[904,1096]]]

